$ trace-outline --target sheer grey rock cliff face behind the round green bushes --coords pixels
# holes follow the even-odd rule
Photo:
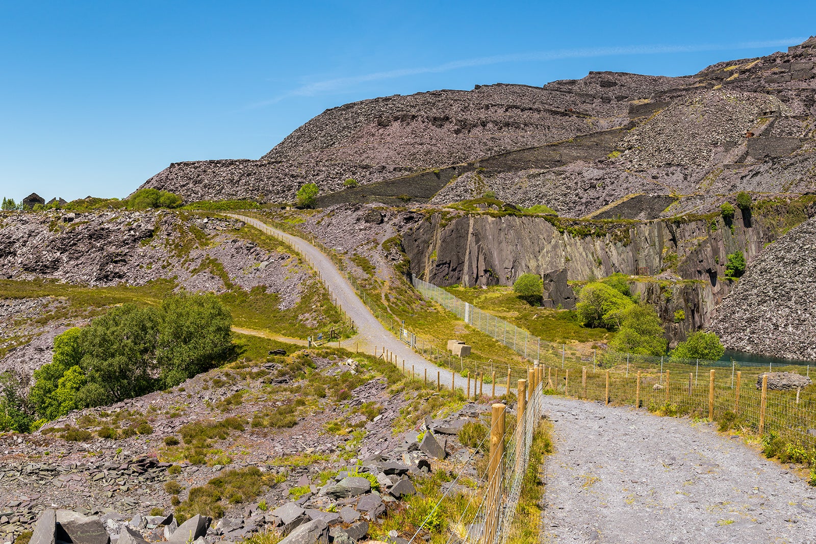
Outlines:
[[[512,285],[526,272],[565,268],[570,280],[620,272],[648,276],[635,292],[666,321],[685,319],[672,337],[685,337],[710,321],[732,287],[727,255],[744,252],[749,263],[792,223],[816,213],[813,199],[765,202],[731,225],[720,215],[648,222],[567,221],[552,217],[440,212],[403,233],[415,275],[436,285]],[[732,228],[733,227],[733,228]]]

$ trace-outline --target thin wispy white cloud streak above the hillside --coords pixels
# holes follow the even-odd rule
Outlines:
[[[396,79],[398,77],[415,76],[423,73],[444,73],[451,70],[473,68],[476,66],[486,66],[490,64],[507,64],[517,62],[541,62],[547,60],[564,59],[586,59],[592,57],[614,56],[614,55],[666,55],[671,53],[699,53],[703,51],[723,51],[723,50],[747,50],[763,49],[765,47],[788,46],[795,43],[804,42],[807,38],[784,38],[778,40],[768,40],[764,42],[739,42],[723,44],[698,44],[698,45],[643,45],[643,46],[616,46],[616,47],[583,47],[577,49],[558,49],[554,51],[533,51],[528,53],[514,53],[510,55],[491,55],[478,57],[475,59],[455,60],[436,66],[426,66],[419,68],[406,68],[387,70],[384,72],[366,73],[358,76],[336,77],[320,82],[308,83],[299,86],[291,91],[286,91],[282,95],[277,95],[269,100],[251,104],[249,108],[261,108],[270,104],[277,104],[282,100],[296,96],[314,96],[330,92],[342,91],[352,88],[361,83],[378,82],[385,79]]]

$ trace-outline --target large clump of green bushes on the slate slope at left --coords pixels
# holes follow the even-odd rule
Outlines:
[[[54,339],[54,358],[34,371],[29,402],[51,420],[175,387],[228,360],[231,325],[211,294],[174,295],[160,307],[113,307]]]

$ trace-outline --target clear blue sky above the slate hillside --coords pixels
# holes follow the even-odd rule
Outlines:
[[[0,196],[124,197],[354,100],[685,75],[812,34],[812,2],[0,0]]]

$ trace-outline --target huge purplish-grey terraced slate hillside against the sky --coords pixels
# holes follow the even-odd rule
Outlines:
[[[444,204],[491,190],[568,216],[639,193],[809,192],[814,63],[810,38],[690,77],[604,72],[362,100],[314,117],[258,161],[174,163],[143,187],[188,201],[286,201],[313,182],[323,206]],[[342,190],[348,178],[361,187]]]

